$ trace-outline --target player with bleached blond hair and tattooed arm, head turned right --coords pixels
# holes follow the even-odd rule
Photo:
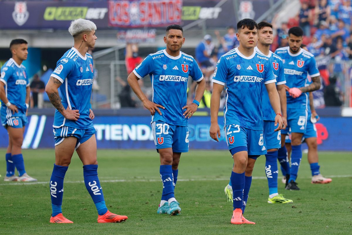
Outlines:
[[[57,109],[54,116],[55,164],[50,178],[52,214],[50,223],[73,223],[62,215],[65,173],[76,150],[83,163],[84,184],[98,210],[98,223],[116,223],[127,216],[116,215],[106,208],[98,178],[94,113],[90,95],[93,84],[93,58],[87,53],[95,45],[96,26],[92,21],[77,19],[68,29],[74,46],[57,62],[45,87],[50,102]],[[58,89],[62,99],[60,100]]]

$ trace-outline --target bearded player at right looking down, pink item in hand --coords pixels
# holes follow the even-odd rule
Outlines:
[[[320,88],[319,70],[313,54],[301,49],[303,30],[300,27],[292,27],[288,32],[288,47],[278,48],[275,54],[279,55],[284,64],[284,73],[287,86],[287,120],[292,131],[292,156],[291,169],[287,168],[288,162],[285,143],[282,141],[278,151],[278,159],[286,172],[290,172],[287,190],[300,190],[296,183],[298,168],[302,159],[302,137],[306,132],[308,119],[308,92]],[[308,73],[312,77],[312,83],[307,85]],[[281,131],[281,139],[285,139],[288,128]]]

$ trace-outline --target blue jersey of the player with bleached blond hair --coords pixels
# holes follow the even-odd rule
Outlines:
[[[57,61],[56,69],[50,76],[62,83],[59,89],[64,108],[76,109],[80,113],[80,118],[73,121],[67,120],[56,110],[52,126],[55,128],[69,126],[77,129],[93,127],[93,121],[89,118],[90,95],[94,76],[93,57],[88,53],[83,57],[75,48],[71,48]]]

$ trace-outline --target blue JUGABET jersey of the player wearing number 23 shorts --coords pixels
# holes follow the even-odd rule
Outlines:
[[[254,50],[249,57],[235,48],[220,57],[213,82],[224,85],[224,123],[263,130],[263,86],[276,82],[269,58]]]

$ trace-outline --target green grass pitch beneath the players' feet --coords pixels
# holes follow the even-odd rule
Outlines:
[[[50,224],[49,179],[54,150],[24,150],[26,171],[36,184],[4,182],[5,149],[0,150],[0,234],[352,234],[352,154],[321,152],[321,172],[333,178],[327,185],[310,183],[303,154],[297,183],[300,191],[279,193],[293,204],[268,204],[265,157],[253,171],[245,216],[255,225],[230,224],[232,203],[226,202],[233,161],[228,151],[191,150],[182,154],[175,196],[180,216],[158,215],[162,183],[155,150],[98,150],[99,178],[111,212],[127,215],[117,224],[98,224],[97,213],[83,181],[75,154],[65,177],[63,214],[74,224]],[[281,175],[281,174],[280,174]]]

